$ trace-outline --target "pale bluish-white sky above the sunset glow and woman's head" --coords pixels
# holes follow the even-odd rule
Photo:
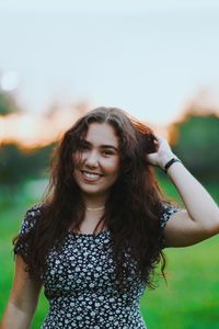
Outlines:
[[[85,99],[166,124],[201,89],[219,107],[217,0],[0,0],[0,39],[28,111]]]

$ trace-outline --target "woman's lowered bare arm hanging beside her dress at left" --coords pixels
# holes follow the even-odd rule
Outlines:
[[[31,328],[42,284],[32,280],[25,268],[25,262],[18,254],[13,286],[0,326],[1,329]]]

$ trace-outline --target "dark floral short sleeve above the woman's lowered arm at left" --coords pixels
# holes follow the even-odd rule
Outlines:
[[[18,239],[14,243],[14,253],[20,253],[22,256],[26,256],[28,242],[25,241],[24,236],[28,234],[32,229],[34,229],[36,225],[37,218],[41,216],[42,213],[42,205],[37,204],[30,208],[23,219],[23,223],[21,225]]]

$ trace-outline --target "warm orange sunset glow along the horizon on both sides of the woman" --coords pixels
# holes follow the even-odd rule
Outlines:
[[[59,104],[50,107],[47,114],[12,113],[0,115],[0,145],[16,144],[24,149],[33,149],[47,146],[57,141],[60,136],[74,124],[84,113],[91,110],[87,102],[74,104]],[[187,101],[178,116],[165,125],[145,122],[157,135],[161,135],[170,141],[170,127],[174,122],[183,122],[188,113],[194,115],[219,116],[219,110],[210,103],[208,94],[203,92],[195,100]],[[136,117],[137,118],[137,117]]]

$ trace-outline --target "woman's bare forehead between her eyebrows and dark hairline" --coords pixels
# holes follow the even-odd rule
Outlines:
[[[91,123],[84,139],[93,145],[113,145],[118,147],[115,128],[107,123]]]

